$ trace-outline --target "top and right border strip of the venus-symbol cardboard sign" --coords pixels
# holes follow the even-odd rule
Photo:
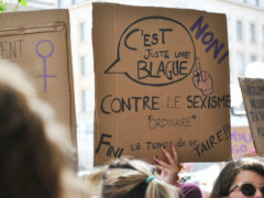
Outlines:
[[[72,144],[77,150],[77,124],[75,112],[75,98],[74,98],[74,74],[72,63],[72,46],[70,46],[70,24],[69,24],[69,11],[68,9],[54,9],[54,10],[37,10],[37,11],[19,11],[12,13],[1,13],[0,29],[9,30],[18,29],[22,26],[42,26],[51,23],[63,23],[66,28],[66,46],[67,46],[67,72],[69,79],[69,92],[70,92],[70,138]],[[77,157],[77,154],[76,154]],[[76,161],[77,163],[78,161]]]

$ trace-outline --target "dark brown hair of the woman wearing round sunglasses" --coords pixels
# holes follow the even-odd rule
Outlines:
[[[252,170],[264,177],[264,162],[261,157],[245,157],[229,162],[220,172],[215,182],[211,198],[226,197],[229,194],[230,187],[233,184],[235,176],[241,170]]]

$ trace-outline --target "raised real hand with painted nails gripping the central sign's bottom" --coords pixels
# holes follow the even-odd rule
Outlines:
[[[161,176],[164,182],[170,185],[179,185],[178,180],[178,173],[183,168],[183,165],[179,164],[178,161],[178,154],[176,152],[175,145],[172,146],[173,156],[164,148],[162,147],[162,152],[167,158],[167,163],[158,160],[156,156],[154,156],[154,165],[157,169],[161,170]]]

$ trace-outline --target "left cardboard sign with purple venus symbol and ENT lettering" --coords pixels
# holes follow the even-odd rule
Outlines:
[[[0,58],[22,67],[77,146],[68,10],[0,14]]]

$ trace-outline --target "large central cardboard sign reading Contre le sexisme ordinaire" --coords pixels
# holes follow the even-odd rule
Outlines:
[[[230,160],[226,15],[94,3],[92,16],[95,165],[173,144],[182,162]]]

